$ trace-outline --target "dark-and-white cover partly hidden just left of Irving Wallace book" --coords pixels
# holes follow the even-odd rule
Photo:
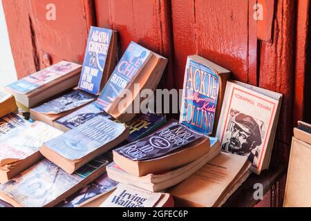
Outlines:
[[[107,173],[104,173],[90,184],[84,186],[84,188],[77,191],[77,193],[71,195],[64,202],[59,204],[59,207],[79,207],[89,202],[92,199],[97,198],[100,195],[113,191],[118,182],[109,179]]]

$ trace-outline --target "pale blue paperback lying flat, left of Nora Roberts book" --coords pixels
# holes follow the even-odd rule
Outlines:
[[[124,124],[97,116],[73,130],[45,142],[40,152],[67,173],[109,151],[129,135]]]

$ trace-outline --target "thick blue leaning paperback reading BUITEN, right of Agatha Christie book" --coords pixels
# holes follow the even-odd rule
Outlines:
[[[166,58],[132,41],[96,104],[115,119],[129,122],[135,117],[136,112],[133,111],[132,104],[135,99],[140,101],[140,90],[144,88],[155,90],[166,65]],[[126,93],[124,89],[131,93]],[[120,102],[123,98],[123,102]]]

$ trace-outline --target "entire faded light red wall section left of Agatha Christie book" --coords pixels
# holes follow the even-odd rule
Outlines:
[[[46,19],[53,3],[55,20]],[[43,55],[82,63],[89,26],[95,24],[93,0],[4,0],[17,76],[46,67]]]

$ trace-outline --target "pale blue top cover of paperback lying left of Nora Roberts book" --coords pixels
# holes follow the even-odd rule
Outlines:
[[[114,140],[124,130],[123,124],[97,116],[44,145],[68,160],[79,160]]]

